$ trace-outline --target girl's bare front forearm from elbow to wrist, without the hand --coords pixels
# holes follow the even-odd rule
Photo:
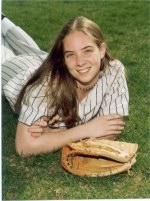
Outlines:
[[[40,137],[32,137],[28,132],[29,127],[19,123],[16,133],[16,150],[19,155],[37,155],[40,153],[53,152],[69,142],[76,142],[88,137],[86,125],[77,126],[62,131],[52,131]]]

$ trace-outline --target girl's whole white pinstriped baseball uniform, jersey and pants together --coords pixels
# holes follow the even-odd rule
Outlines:
[[[39,68],[47,53],[41,51],[34,41],[15,25],[7,27],[4,37],[15,53],[17,52],[16,56],[11,55],[2,64],[3,90],[14,110],[20,90]],[[45,97],[48,79],[30,90],[28,96],[23,99],[19,121],[31,125],[41,116],[50,115],[51,111],[47,111]],[[79,124],[107,114],[126,116],[128,115],[128,103],[129,94],[124,66],[118,60],[111,61],[94,88],[78,103],[78,113],[81,118]],[[58,126],[64,126],[64,123],[62,122]]]

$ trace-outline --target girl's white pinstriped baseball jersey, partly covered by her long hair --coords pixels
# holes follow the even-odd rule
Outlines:
[[[36,58],[37,59],[37,58]],[[13,108],[18,92],[36,68],[27,68],[12,78],[5,86],[6,98]],[[47,79],[34,90],[30,90],[27,98],[22,101],[19,121],[31,125],[41,116],[49,116],[45,89]],[[66,89],[67,90],[67,89]],[[65,92],[64,92],[65,93]],[[105,73],[101,75],[90,93],[78,103],[80,123],[85,123],[96,116],[107,114],[128,115],[128,88],[121,62],[111,62]],[[60,125],[63,126],[63,123]]]

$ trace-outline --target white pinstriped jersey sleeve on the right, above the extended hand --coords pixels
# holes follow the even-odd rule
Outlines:
[[[115,66],[112,66],[110,74],[110,84],[106,90],[100,113],[102,115],[120,114],[128,116],[129,92],[123,64],[117,61]]]

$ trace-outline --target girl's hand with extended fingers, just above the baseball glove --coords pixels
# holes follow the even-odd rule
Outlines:
[[[88,122],[89,137],[117,136],[124,130],[125,122],[120,115],[106,115]]]

